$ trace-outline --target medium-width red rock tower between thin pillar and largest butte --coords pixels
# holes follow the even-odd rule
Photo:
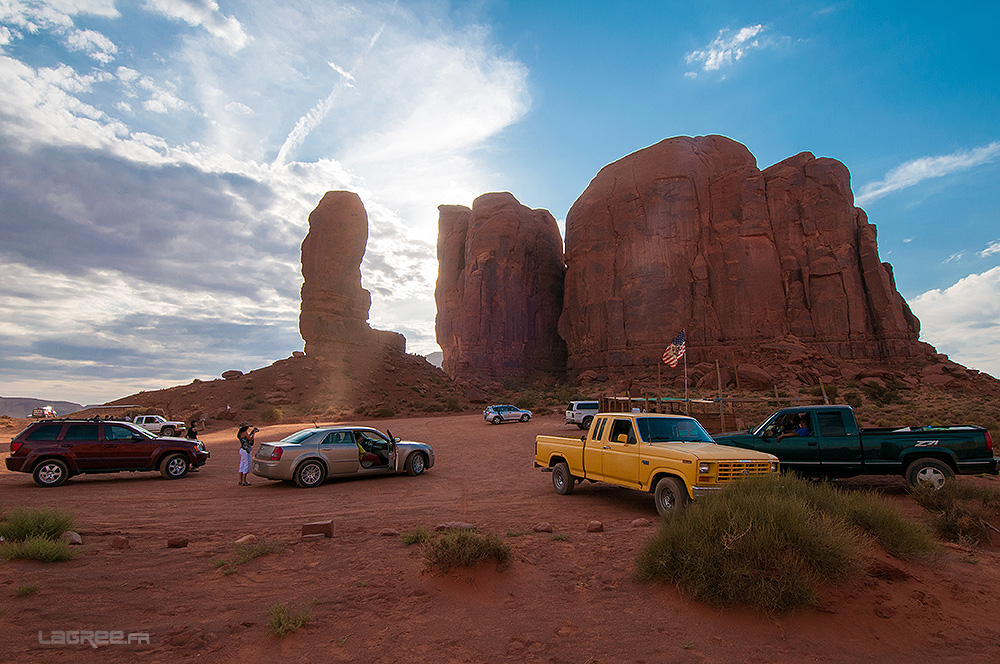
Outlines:
[[[437,341],[452,377],[562,372],[562,239],[508,193],[438,208]]]

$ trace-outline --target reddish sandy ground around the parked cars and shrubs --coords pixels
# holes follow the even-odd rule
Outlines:
[[[72,511],[85,544],[66,563],[0,564],[3,661],[1000,661],[995,549],[970,556],[943,546],[931,564],[886,557],[829,589],[818,610],[717,611],[633,578],[656,522],[648,494],[593,484],[560,496],[531,467],[536,434],[578,433],[559,415],[502,426],[479,415],[372,424],[431,443],[437,465],[421,477],[313,490],[261,478],[239,487],[235,430],[220,424],[203,436],[208,465],[178,481],[96,475],[41,489],[0,469],[5,508]],[[257,440],[299,428],[270,427]],[[900,482],[879,486],[917,513]],[[334,537],[300,542],[302,524],[320,520],[333,521]],[[604,532],[587,532],[592,520]],[[438,575],[424,569],[418,546],[380,535],[449,521],[505,537],[511,567]],[[568,539],[530,532],[543,521]],[[223,575],[215,562],[250,533],[288,546]],[[112,548],[116,535],[128,549]],[[167,548],[171,537],[190,544]],[[17,596],[24,584],[38,591]],[[313,619],[284,639],[269,634],[267,610],[279,601]],[[149,644],[41,645],[39,633],[50,640],[54,630],[145,633]]]

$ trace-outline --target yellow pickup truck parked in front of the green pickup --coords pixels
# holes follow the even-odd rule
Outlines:
[[[584,436],[536,436],[535,467],[552,473],[557,493],[601,481],[649,491],[667,514],[689,500],[752,475],[776,475],[778,457],[716,445],[683,415],[598,413]]]

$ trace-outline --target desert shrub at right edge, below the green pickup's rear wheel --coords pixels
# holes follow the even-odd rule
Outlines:
[[[910,488],[910,495],[930,513],[938,537],[962,544],[990,541],[987,518],[1000,506],[996,489],[954,481],[940,489],[919,484]]]

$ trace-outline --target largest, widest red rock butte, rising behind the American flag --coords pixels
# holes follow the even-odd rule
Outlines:
[[[743,145],[703,136],[624,157],[570,209],[566,264],[574,373],[655,366],[682,328],[694,362],[789,335],[838,358],[932,352],[847,168],[809,153],[761,172]]]

